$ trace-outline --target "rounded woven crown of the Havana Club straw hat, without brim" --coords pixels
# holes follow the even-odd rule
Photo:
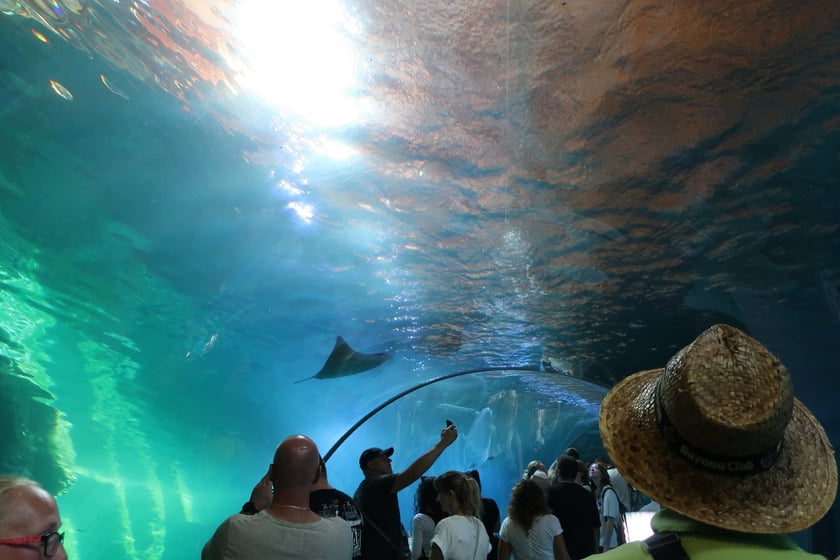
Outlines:
[[[787,369],[727,325],[714,325],[671,358],[657,393],[679,437],[712,455],[767,452],[782,441],[793,413]]]

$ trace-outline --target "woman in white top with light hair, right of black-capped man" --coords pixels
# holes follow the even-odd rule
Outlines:
[[[438,501],[451,515],[435,527],[430,560],[486,560],[490,539],[481,515],[478,483],[462,472],[448,471],[435,479]]]

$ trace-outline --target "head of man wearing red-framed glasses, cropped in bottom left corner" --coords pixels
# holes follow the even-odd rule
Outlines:
[[[60,527],[49,492],[27,478],[0,477],[0,559],[67,560]]]

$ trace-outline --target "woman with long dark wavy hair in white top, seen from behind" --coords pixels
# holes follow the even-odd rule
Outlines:
[[[545,490],[520,480],[510,493],[508,515],[499,531],[499,560],[571,560],[563,528],[551,513]]]

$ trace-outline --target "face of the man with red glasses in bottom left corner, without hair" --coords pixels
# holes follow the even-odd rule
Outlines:
[[[58,514],[55,499],[49,492],[34,486],[20,486],[7,492],[12,494],[7,494],[7,498],[17,508],[18,514],[4,534],[0,535],[0,539],[33,537],[59,530],[61,516]],[[53,555],[49,557],[44,554],[43,542],[0,545],[0,559],[2,560],[40,560],[42,558],[67,560],[64,544],[59,543]]]

